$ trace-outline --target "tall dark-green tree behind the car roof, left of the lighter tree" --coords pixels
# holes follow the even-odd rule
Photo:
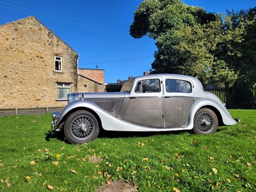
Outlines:
[[[156,40],[158,51],[155,52],[152,72],[184,74],[184,60],[188,56],[173,49],[181,42],[173,37],[173,33],[184,26],[207,24],[217,18],[218,15],[188,6],[180,0],[148,0],[143,1],[134,13],[130,34],[134,38],[148,35]]]

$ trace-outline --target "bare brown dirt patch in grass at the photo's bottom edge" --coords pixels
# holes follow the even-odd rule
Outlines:
[[[131,183],[124,182],[119,180],[116,182],[111,182],[109,184],[104,184],[100,186],[96,192],[134,192],[138,191],[136,186],[133,186]]]

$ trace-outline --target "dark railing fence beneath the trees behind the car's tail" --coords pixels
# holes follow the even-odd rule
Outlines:
[[[227,102],[225,88],[205,88],[204,90],[214,93],[222,102]],[[237,88],[233,103],[244,108],[256,108],[256,87]]]

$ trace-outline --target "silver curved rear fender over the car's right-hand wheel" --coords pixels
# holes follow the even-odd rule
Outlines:
[[[200,108],[204,108],[207,106],[211,106],[212,108],[215,108],[219,111],[223,124],[225,125],[234,125],[236,124],[236,120],[232,118],[232,116],[228,113],[227,109],[223,106],[221,106],[218,102],[212,99],[199,99],[193,104],[189,111],[189,118],[188,118],[188,125],[191,127],[193,125],[194,117],[196,114],[196,111]],[[208,107],[209,108],[209,107]]]

